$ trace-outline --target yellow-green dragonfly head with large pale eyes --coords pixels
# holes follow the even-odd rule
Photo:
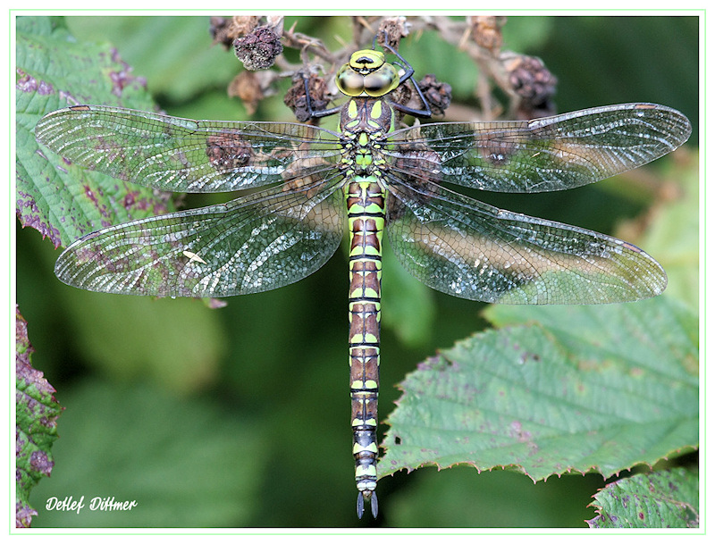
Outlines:
[[[342,65],[335,82],[347,96],[379,97],[400,85],[400,72],[385,61],[385,55],[374,49],[361,49]]]

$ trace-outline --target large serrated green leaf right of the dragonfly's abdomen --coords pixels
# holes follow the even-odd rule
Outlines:
[[[534,324],[477,334],[410,374],[381,476],[458,463],[534,481],[610,476],[697,447],[697,318],[683,305],[495,305],[488,315]]]

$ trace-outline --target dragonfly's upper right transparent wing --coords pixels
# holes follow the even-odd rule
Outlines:
[[[533,121],[434,123],[389,135],[391,170],[511,193],[575,188],[665,155],[690,136],[669,107],[624,104]]]

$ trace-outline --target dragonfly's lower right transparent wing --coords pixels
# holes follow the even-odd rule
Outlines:
[[[627,242],[500,210],[433,184],[416,191],[391,181],[391,246],[433,289],[504,304],[626,302],[665,289],[660,264]]]

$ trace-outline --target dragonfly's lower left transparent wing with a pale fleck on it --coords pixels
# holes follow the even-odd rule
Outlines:
[[[159,297],[277,289],[315,272],[340,244],[339,183],[270,188],[99,230],[65,249],[55,274],[80,289]]]

